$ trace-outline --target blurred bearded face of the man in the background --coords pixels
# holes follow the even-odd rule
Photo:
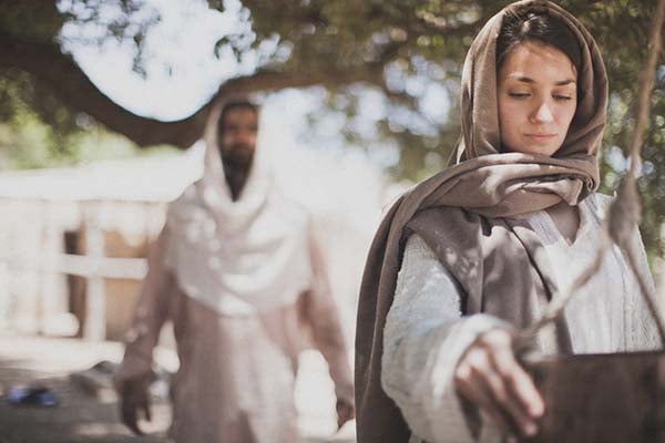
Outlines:
[[[227,166],[248,167],[256,150],[258,119],[247,107],[228,111],[219,131],[219,152]]]

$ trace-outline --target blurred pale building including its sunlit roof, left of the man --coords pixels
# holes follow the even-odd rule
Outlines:
[[[188,152],[0,174],[0,330],[121,339],[147,245],[200,166]]]

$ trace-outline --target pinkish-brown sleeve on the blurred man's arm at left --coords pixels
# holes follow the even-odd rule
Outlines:
[[[176,288],[173,275],[164,265],[164,250],[168,241],[165,227],[151,247],[149,270],[141,286],[141,295],[130,328],[125,333],[125,353],[115,374],[115,384],[130,379],[153,377],[153,349],[166,321],[171,296]]]

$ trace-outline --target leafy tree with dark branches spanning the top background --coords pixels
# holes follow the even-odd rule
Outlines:
[[[190,0],[195,1],[195,0]],[[421,178],[444,164],[458,137],[453,105],[440,119],[424,112],[427,87],[442,87],[457,103],[463,56],[473,35],[507,1],[499,0],[208,0],[211,10],[238,8],[245,23],[221,35],[214,50],[238,59],[259,53],[255,72],[231,79],[191,116],[160,122],[135,115],[104,96],[68,53],[65,23],[92,23],[103,32],[92,39],[130,41],[141,71],[143,41],[158,11],[140,0],[0,1],[0,121],[20,109],[33,110],[59,132],[76,131],[76,115],[91,116],[139,146],[167,143],[181,148],[196,141],[209,104],[231,93],[270,92],[320,85],[328,109],[347,116],[349,141],[389,145],[399,154],[392,172]],[[605,134],[603,187],[615,188],[625,173],[626,137],[634,91],[644,66],[653,0],[575,1],[561,6],[576,14],[600,43],[611,80],[610,125]],[[110,14],[112,9],[114,13]],[[212,49],[211,49],[212,51]],[[661,58],[663,60],[663,58]],[[645,234],[657,245],[665,213],[665,66],[659,63],[645,137]],[[382,96],[386,110],[367,134],[354,122],[365,91]],[[431,105],[431,103],[430,103]],[[436,105],[436,104],[434,104]]]

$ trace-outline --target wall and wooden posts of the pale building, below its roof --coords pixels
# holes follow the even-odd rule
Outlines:
[[[3,229],[8,247],[0,251],[0,302],[4,316],[16,319],[34,310],[34,331],[49,333],[49,319],[69,312],[80,326],[78,337],[120,339],[147,270],[149,243],[162,227],[166,204],[0,199],[8,213],[14,204],[41,207],[48,215],[28,228],[14,222]],[[109,218],[109,212],[133,213],[134,231],[114,226],[117,220]]]

